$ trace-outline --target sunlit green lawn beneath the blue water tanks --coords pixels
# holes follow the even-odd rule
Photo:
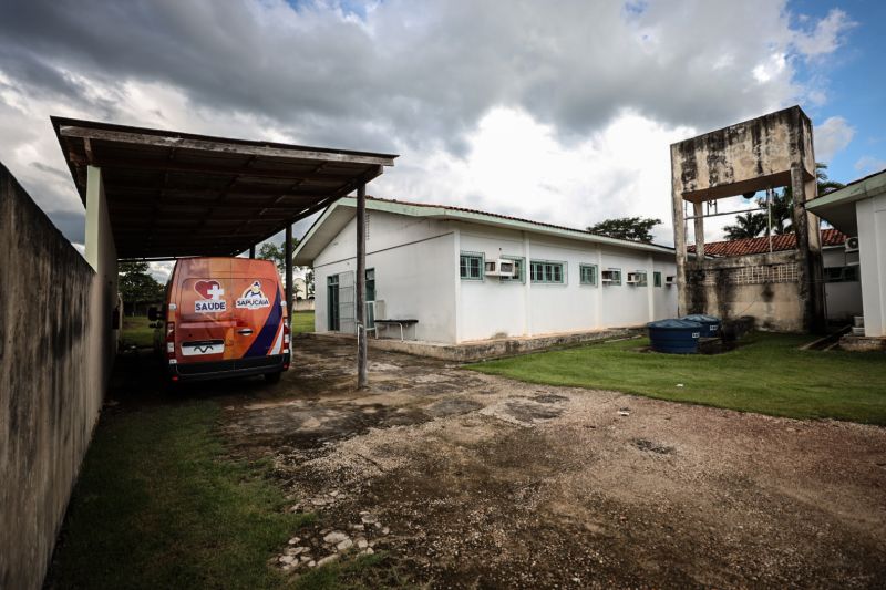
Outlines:
[[[648,340],[586,345],[470,365],[530,383],[636,393],[795,418],[886,425],[886,355],[801,351],[810,337],[750,334],[718,355],[640,353]],[[678,386],[682,384],[682,386]]]

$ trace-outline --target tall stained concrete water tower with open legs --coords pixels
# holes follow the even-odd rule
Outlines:
[[[812,122],[799,106],[671,145],[671,184],[680,314],[710,309],[712,301],[719,301],[717,307],[730,311],[732,308],[723,301],[735,300],[740,306],[746,300],[748,306],[756,306],[762,298],[767,302],[763,309],[777,311],[779,314],[758,318],[759,325],[774,330],[824,329],[825,294],[817,218],[806,213],[804,207],[807,199],[815,197],[816,190]],[[782,186],[791,187],[794,201],[797,250],[795,262],[792,263],[792,271],[795,273],[793,282],[796,286],[793,302],[801,306],[799,324],[793,321],[793,311],[789,312],[787,308],[769,301],[782,299],[775,291],[790,289],[730,288],[728,292],[718,294],[718,291],[724,289],[720,283],[732,284],[731,279],[718,277],[732,277],[738,271],[724,271],[717,263],[703,258],[702,203]],[[691,265],[688,263],[686,253],[686,201],[693,203],[696,252],[699,257]],[[749,272],[759,269],[756,261],[750,263],[752,266],[746,269]],[[736,262],[733,260],[730,265],[735,267]],[[705,278],[700,280],[699,277]],[[784,281],[775,281],[782,282]],[[764,281],[761,284],[770,283]],[[742,292],[743,294],[739,294]],[[784,292],[782,296],[789,297],[789,293]],[[787,328],[789,325],[793,328]]]

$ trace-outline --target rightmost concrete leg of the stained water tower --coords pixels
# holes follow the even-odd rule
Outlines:
[[[818,237],[818,218],[806,213],[805,203],[815,198],[816,182],[806,180],[802,165],[791,168],[793,193],[794,231],[799,256],[797,281],[803,302],[803,329],[810,332],[826,330],[824,318],[824,271],[822,247]]]

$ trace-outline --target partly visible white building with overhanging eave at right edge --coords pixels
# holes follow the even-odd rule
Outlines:
[[[814,213],[855,239],[862,279],[865,335],[886,338],[886,170],[806,203]]]

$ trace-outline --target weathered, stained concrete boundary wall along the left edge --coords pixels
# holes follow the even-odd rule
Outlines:
[[[40,588],[102,404],[115,284],[2,165],[0,268],[0,588]]]

